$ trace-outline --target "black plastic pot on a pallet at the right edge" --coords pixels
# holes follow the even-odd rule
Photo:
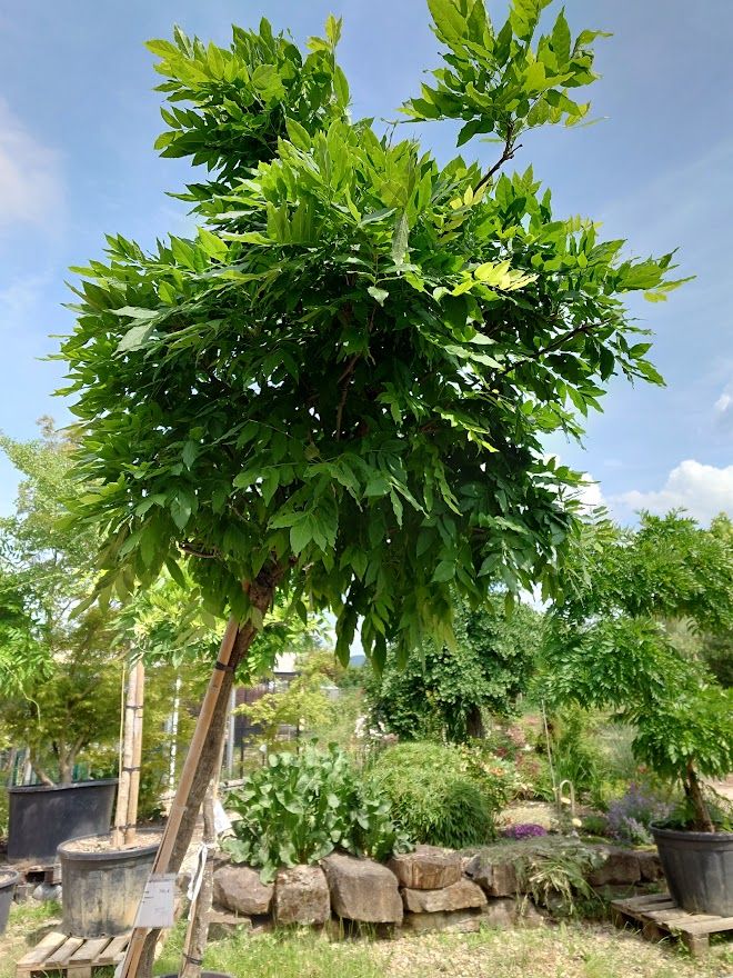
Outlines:
[[[733,832],[652,826],[670,892],[690,914],[733,917]]]

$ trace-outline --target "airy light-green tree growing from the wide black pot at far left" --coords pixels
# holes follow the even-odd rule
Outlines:
[[[93,589],[90,528],[64,523],[77,490],[72,445],[49,419],[30,442],[0,436],[20,469],[16,512],[0,519],[0,718],[43,784],[69,782],[79,756],[117,740],[121,659],[114,611],[70,612]]]

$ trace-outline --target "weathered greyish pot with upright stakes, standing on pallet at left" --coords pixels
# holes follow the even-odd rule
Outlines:
[[[150,841],[153,837],[154,841]],[[109,839],[109,835],[94,836]],[[138,832],[131,849],[84,852],[80,839],[59,846],[61,862],[61,929],[73,937],[117,937],[132,929],[138,904],[152,869],[160,831]]]

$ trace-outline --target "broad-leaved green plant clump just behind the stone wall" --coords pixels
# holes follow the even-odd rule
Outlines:
[[[264,881],[280,867],[318,862],[337,848],[375,859],[409,848],[389,802],[364,788],[335,746],[269,755],[231,792],[229,807],[239,820],[224,848],[235,862],[261,869]]]

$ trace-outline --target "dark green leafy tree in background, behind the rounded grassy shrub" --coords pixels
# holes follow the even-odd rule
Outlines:
[[[383,673],[368,679],[374,720],[401,739],[480,737],[482,711],[506,716],[526,689],[541,616],[524,605],[508,616],[493,598],[476,611],[462,607],[456,618],[455,649],[428,641],[404,667],[388,656]]]

